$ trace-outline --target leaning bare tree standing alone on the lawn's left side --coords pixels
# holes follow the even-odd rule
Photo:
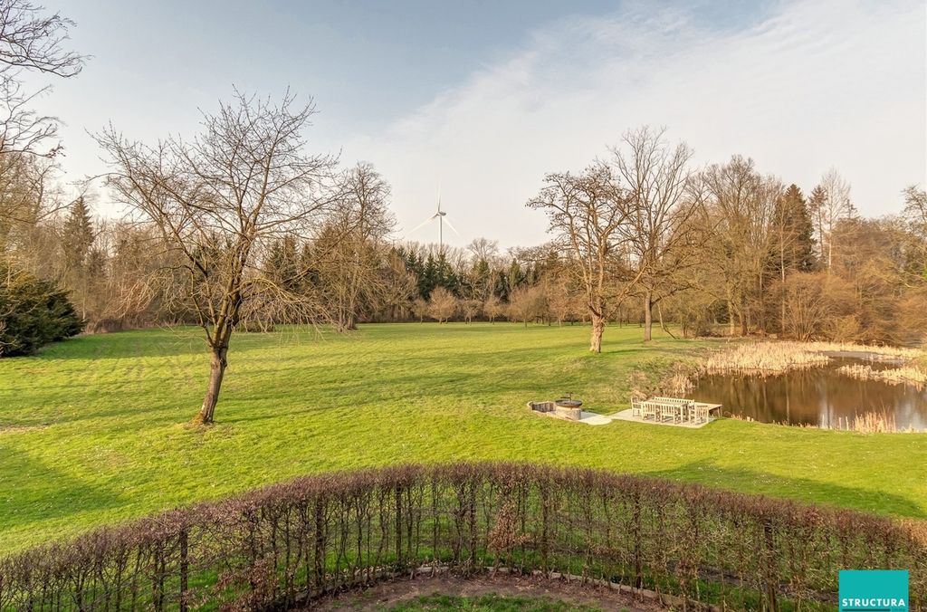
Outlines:
[[[112,172],[108,185],[153,223],[181,261],[181,298],[210,348],[210,381],[197,421],[213,421],[235,328],[249,316],[305,320],[313,303],[263,274],[270,244],[305,234],[330,203],[328,156],[304,152],[314,110],[289,92],[279,103],[244,96],[204,113],[192,141],[171,136],[154,147],[112,126],[97,134]]]

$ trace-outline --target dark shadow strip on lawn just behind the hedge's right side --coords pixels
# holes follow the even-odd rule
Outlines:
[[[870,514],[927,517],[927,509],[921,505],[885,491],[857,489],[811,478],[784,477],[768,472],[723,467],[710,462],[646,472],[646,476],[697,482],[717,489],[758,493],[806,504],[851,508]]]

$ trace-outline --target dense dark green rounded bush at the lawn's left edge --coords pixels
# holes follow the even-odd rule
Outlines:
[[[30,354],[82,330],[67,293],[0,263],[0,356]]]

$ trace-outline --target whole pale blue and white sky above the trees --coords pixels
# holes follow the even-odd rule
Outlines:
[[[392,185],[397,237],[442,208],[459,232],[539,244],[525,202],[546,172],[608,156],[626,130],[665,126],[695,166],[733,154],[806,193],[836,168],[865,215],[927,184],[923,0],[254,3],[48,0],[90,56],[38,102],[56,115],[65,180],[106,171],[108,122],[154,142],[197,131],[233,87],[318,114],[311,153],[369,161]],[[44,83],[36,78],[34,84]],[[96,211],[121,210],[97,187]]]

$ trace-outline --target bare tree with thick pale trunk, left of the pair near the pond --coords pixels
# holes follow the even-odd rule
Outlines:
[[[547,213],[565,274],[582,287],[592,322],[590,351],[602,352],[610,309],[629,295],[644,271],[628,274],[625,267],[627,235],[621,230],[632,201],[603,163],[581,174],[548,174],[544,183],[527,206]]]

